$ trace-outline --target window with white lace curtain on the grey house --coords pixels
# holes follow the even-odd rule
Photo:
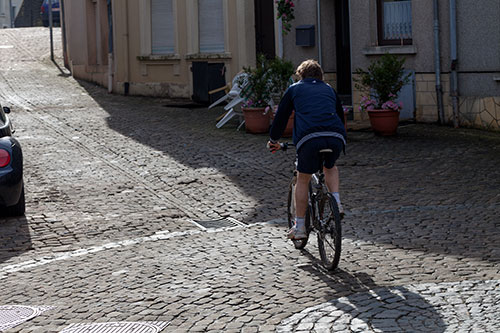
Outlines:
[[[411,45],[411,0],[377,0],[380,45]]]

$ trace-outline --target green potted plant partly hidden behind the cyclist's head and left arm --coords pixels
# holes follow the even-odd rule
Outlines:
[[[276,114],[276,110],[278,108],[278,103],[281,98],[285,94],[287,88],[294,83],[292,75],[295,69],[293,63],[291,61],[275,58],[271,60],[269,64],[269,75],[271,82],[271,93],[274,100],[274,110],[271,113],[271,119],[274,119],[274,115]],[[283,133],[284,137],[290,137],[293,133],[293,123],[294,123],[294,112],[290,116],[288,120],[285,132]]]

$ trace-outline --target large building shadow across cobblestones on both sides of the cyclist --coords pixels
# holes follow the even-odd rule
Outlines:
[[[222,108],[165,107],[169,103],[164,99],[111,95],[94,84],[79,83],[109,115],[106,121],[112,130],[194,170],[186,179],[181,170],[166,166],[162,169],[167,173],[164,178],[169,178],[166,188],[193,193],[196,186],[196,196],[213,201],[215,213],[245,223],[286,216],[294,151],[270,154],[265,149],[267,134],[237,131],[237,122],[217,129]],[[490,200],[483,210],[479,208],[480,214],[474,205],[457,204],[466,200],[462,198],[464,193],[477,196],[474,200],[481,202],[477,192],[466,191],[468,183],[464,180],[477,170],[474,159],[469,161],[461,151],[467,151],[468,156],[480,155],[497,142],[483,141],[480,146],[466,137],[457,142],[451,131],[407,126],[394,138],[366,133],[348,137],[347,155],[340,160],[347,203],[343,235],[405,250],[500,262],[500,256],[492,254],[500,243],[495,218],[500,212],[498,202]],[[415,156],[424,151],[425,159]],[[131,165],[135,165],[134,155],[129,155]],[[500,173],[500,156],[494,151],[490,155],[481,167]],[[455,168],[457,163],[461,168]],[[446,169],[441,168],[443,164]],[[421,171],[418,177],[415,170]],[[159,180],[162,176],[156,175]],[[251,205],[235,201],[228,192],[231,189],[218,183],[221,178],[235,186],[239,197],[250,198]],[[476,188],[484,183],[484,194],[496,195],[500,175],[493,179],[491,182],[483,177],[481,182],[472,183]]]

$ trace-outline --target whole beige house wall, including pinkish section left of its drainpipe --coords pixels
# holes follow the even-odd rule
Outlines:
[[[118,93],[125,93],[128,83],[132,95],[190,98],[193,61],[224,63],[226,82],[243,66],[255,64],[253,1],[223,0],[225,51],[200,54],[198,0],[173,0],[175,51],[161,56],[151,54],[151,0],[112,3],[114,54],[108,60],[106,0],[65,2],[67,52],[73,76],[103,86],[108,86],[110,79],[112,90]]]

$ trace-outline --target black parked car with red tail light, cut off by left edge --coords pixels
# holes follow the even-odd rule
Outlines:
[[[0,216],[24,215],[23,152],[7,114],[0,106]]]

